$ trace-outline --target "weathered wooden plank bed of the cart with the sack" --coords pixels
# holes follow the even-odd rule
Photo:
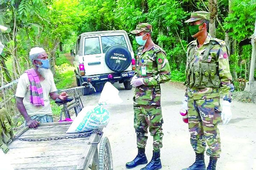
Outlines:
[[[66,134],[71,122],[42,124],[36,129],[23,129],[17,134],[23,139],[47,139],[47,141],[20,141],[15,139],[7,153],[12,158],[15,170],[87,170],[89,164],[98,162],[97,144],[99,135],[76,139],[59,139],[74,136]],[[91,161],[93,160],[93,161]]]

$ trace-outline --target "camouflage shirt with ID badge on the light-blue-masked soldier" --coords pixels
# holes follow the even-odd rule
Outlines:
[[[160,105],[160,83],[171,79],[170,65],[165,51],[154,45],[143,53],[143,47],[138,48],[136,61],[136,76],[143,77],[145,85],[135,88],[134,103],[137,105]]]

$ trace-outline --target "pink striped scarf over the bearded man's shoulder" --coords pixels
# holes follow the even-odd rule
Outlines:
[[[44,106],[43,89],[40,84],[40,79],[34,68],[25,71],[29,77],[30,103],[34,106]]]

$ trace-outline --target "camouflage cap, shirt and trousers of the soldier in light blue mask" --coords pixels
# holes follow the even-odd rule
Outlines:
[[[142,31],[152,32],[150,24],[141,23],[131,34]],[[134,91],[134,128],[137,133],[137,147],[145,148],[148,136],[148,127],[153,136],[153,148],[159,150],[163,147],[163,117],[160,105],[160,83],[171,79],[170,66],[166,53],[158,45],[144,51],[144,46],[137,50],[136,76],[143,78],[144,85]]]

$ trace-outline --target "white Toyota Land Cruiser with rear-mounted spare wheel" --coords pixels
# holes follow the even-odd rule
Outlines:
[[[123,83],[130,90],[135,59],[128,34],[123,30],[85,32],[78,36],[74,67],[77,86],[90,82],[102,91],[105,82]],[[89,93],[85,88],[83,94]]]

